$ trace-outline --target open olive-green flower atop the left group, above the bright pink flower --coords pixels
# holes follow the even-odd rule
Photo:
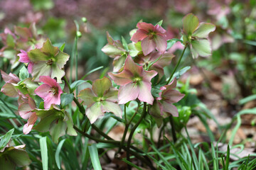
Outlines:
[[[49,76],[62,83],[61,78],[65,75],[63,67],[69,55],[61,52],[58,47],[53,47],[49,39],[43,43],[41,49],[29,51],[28,58],[33,62],[32,76],[35,81],[39,81],[40,76]]]

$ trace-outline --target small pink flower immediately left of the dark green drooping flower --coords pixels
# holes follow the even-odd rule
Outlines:
[[[33,110],[36,108],[36,103],[33,101],[31,97],[28,96],[28,102],[21,103],[20,106],[18,106],[18,113],[21,115],[21,118],[28,120],[28,123],[26,123],[23,126],[23,133],[27,135],[31,129],[33,128],[33,125],[35,125],[37,116],[36,112]]]

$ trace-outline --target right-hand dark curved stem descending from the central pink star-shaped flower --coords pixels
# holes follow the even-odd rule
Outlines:
[[[141,117],[139,118],[138,122],[134,125],[134,127],[132,128],[128,141],[127,141],[127,161],[129,161],[129,152],[130,152],[130,145],[131,145],[131,141],[132,141],[132,136],[135,132],[135,130],[137,129],[137,127],[139,126],[139,124],[142,122],[142,120],[144,119],[144,117],[146,116],[146,102],[144,102],[144,106],[143,106],[143,112]],[[128,168],[131,169],[131,166],[128,165]]]

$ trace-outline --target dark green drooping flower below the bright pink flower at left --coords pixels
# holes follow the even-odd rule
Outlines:
[[[69,113],[60,110],[56,106],[50,106],[49,109],[35,109],[40,122],[33,128],[39,132],[50,132],[53,142],[58,143],[58,138],[67,134],[71,136],[78,135],[73,128],[73,120]]]

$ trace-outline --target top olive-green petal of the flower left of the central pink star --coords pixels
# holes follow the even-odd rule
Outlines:
[[[92,82],[92,90],[98,96],[102,97],[112,86],[110,79],[103,77]]]

